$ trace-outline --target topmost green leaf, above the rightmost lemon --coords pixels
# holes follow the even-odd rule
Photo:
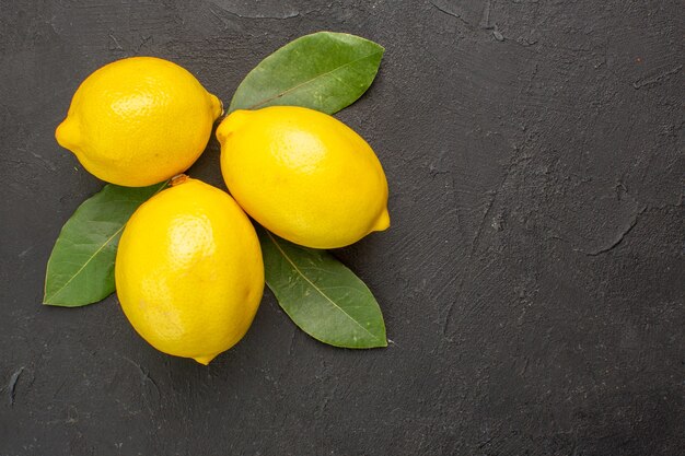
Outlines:
[[[245,77],[229,113],[274,105],[337,113],[369,89],[383,51],[373,42],[345,33],[303,36],[271,54]]]

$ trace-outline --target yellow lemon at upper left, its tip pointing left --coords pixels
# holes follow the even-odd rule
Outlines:
[[[55,137],[96,177],[140,187],[187,169],[221,113],[219,98],[184,68],[131,57],[81,83]]]

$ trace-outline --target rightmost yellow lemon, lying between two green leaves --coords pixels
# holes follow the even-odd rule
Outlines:
[[[334,117],[295,106],[235,110],[217,138],[231,195],[277,235],[335,248],[390,226],[379,159]]]

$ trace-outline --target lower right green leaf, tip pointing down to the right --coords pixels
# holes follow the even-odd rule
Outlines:
[[[329,253],[257,229],[266,283],[303,331],[335,347],[387,347],[383,315],[367,285]]]

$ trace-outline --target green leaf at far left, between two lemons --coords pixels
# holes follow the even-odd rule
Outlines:
[[[44,304],[78,307],[114,292],[114,260],[124,226],[166,183],[105,188],[85,200],[62,226],[47,262]]]

